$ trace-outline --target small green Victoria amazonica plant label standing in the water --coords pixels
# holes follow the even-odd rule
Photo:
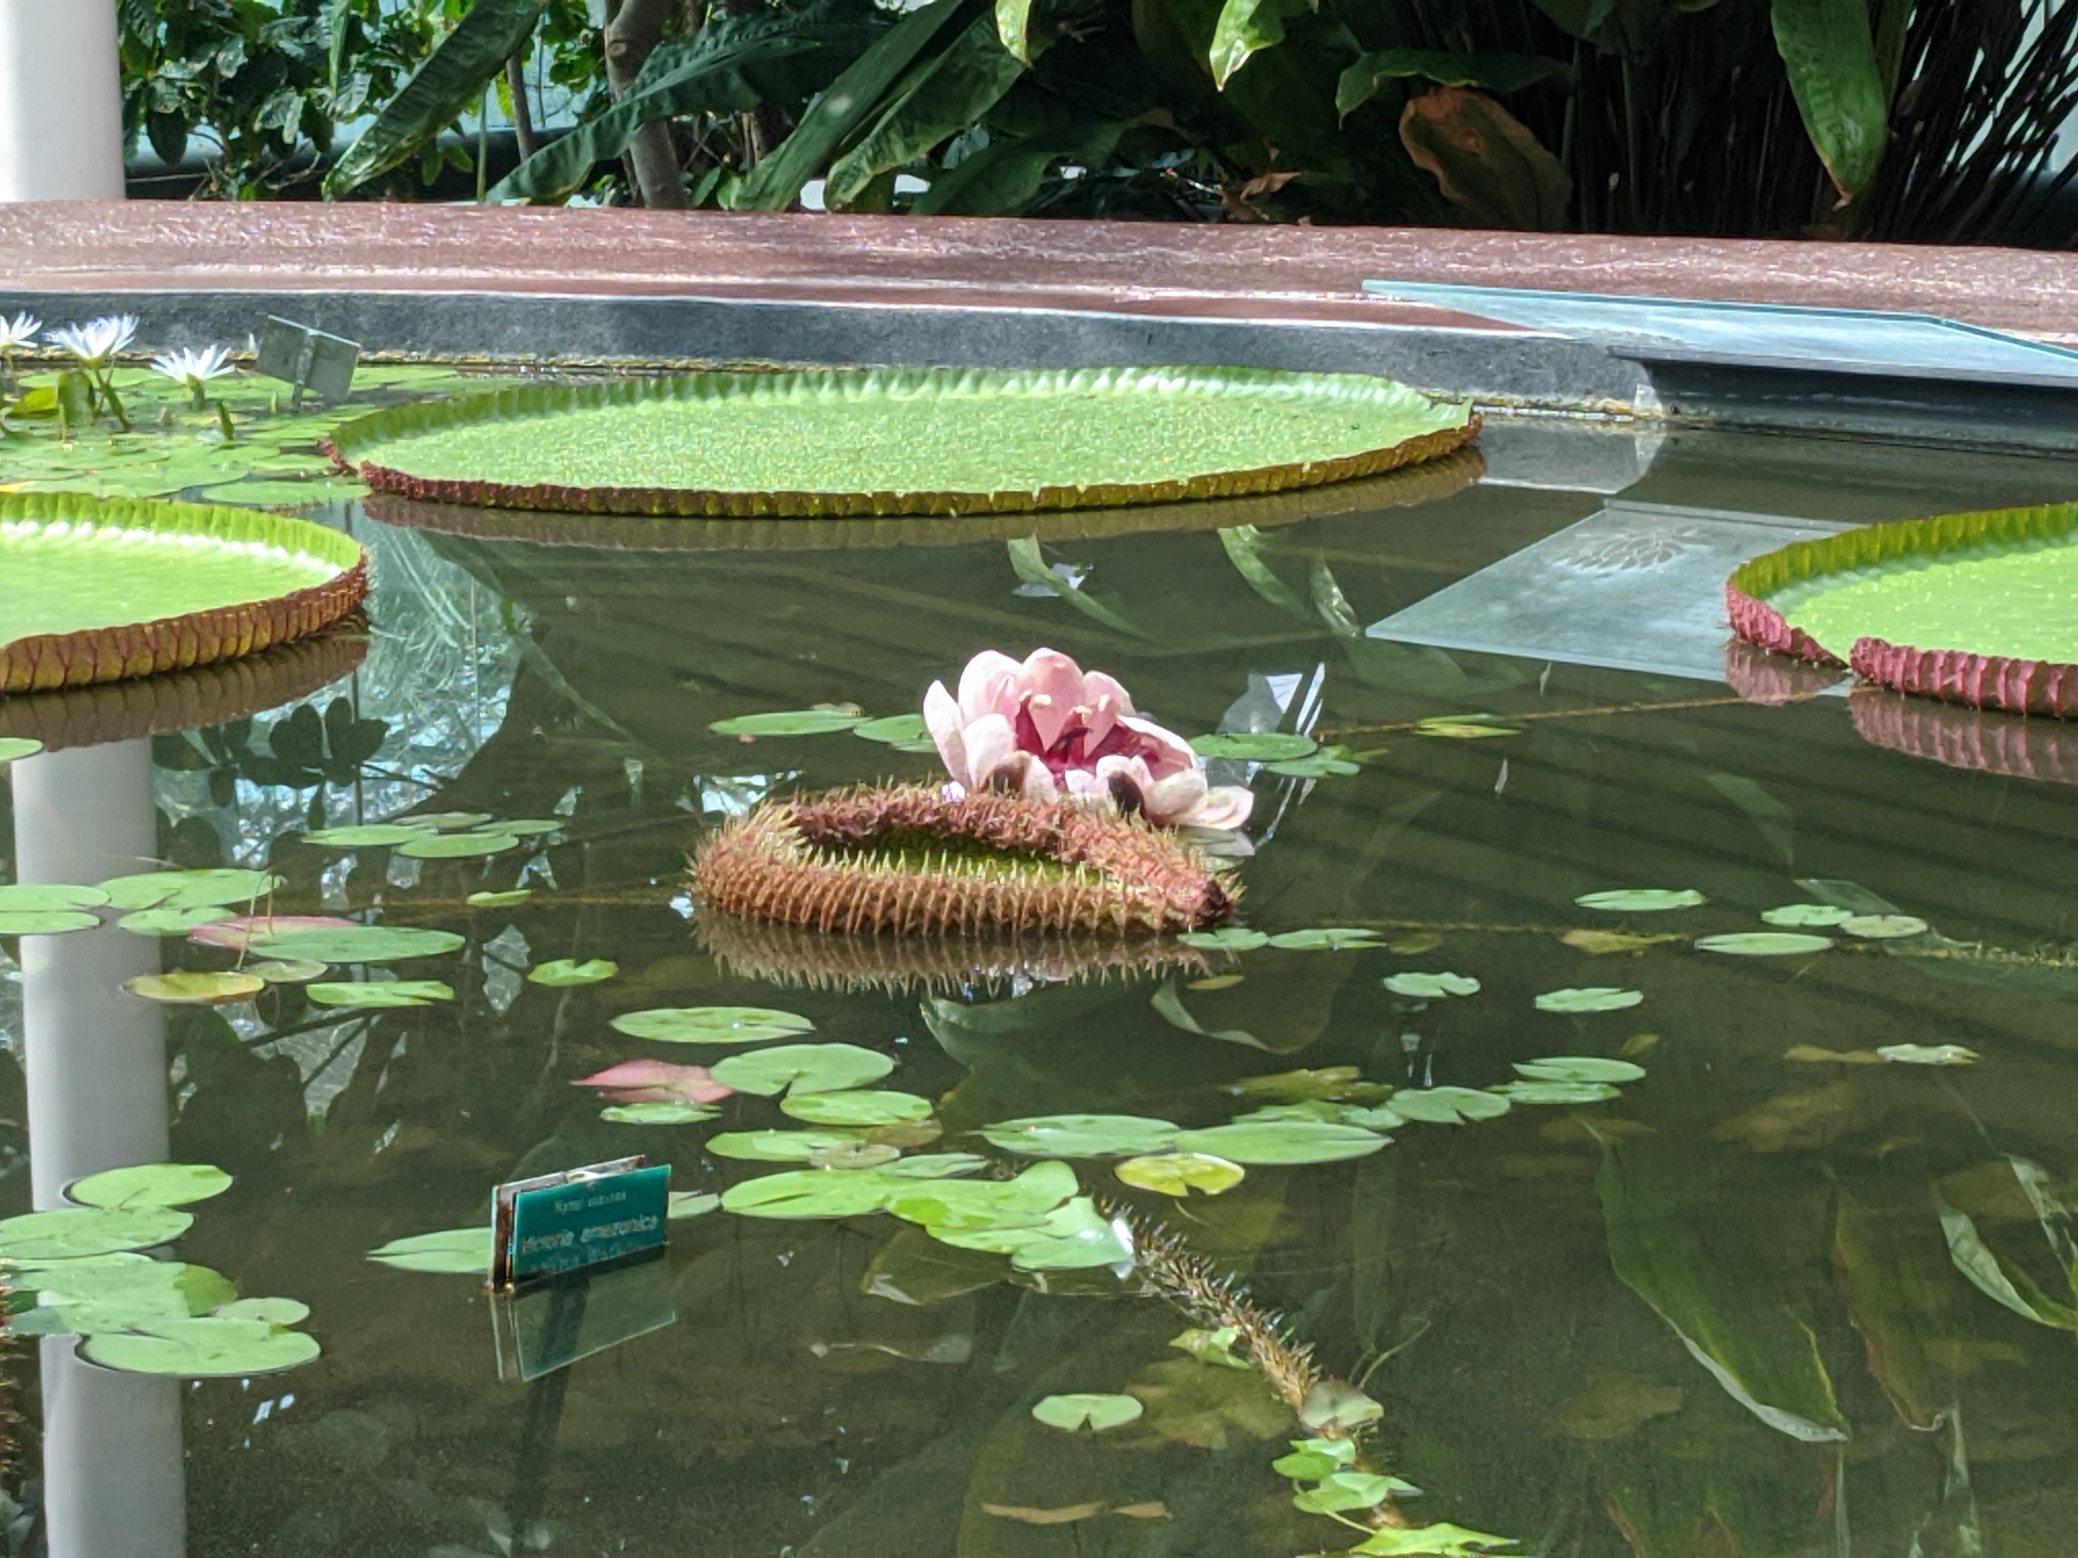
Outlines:
[[[501,1184],[490,1286],[663,1248],[669,1192],[669,1165],[648,1167],[640,1155]]]

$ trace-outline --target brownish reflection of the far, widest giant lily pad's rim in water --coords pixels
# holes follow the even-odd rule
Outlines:
[[[1371,509],[1411,509],[1463,492],[1484,474],[1486,459],[1480,451],[1459,449],[1440,459],[1426,459],[1419,465],[1405,465],[1380,476],[1293,492],[958,519],[931,515],[652,519],[621,513],[522,513],[465,503],[420,503],[384,492],[366,499],[364,507],[387,526],[438,530],[478,540],[526,540],[536,546],[598,546],[634,553],[817,553],[862,546],[943,546],[948,542],[1020,540],[1024,536],[1054,546],[1164,530],[1226,530],[1230,526],[1270,530]]]

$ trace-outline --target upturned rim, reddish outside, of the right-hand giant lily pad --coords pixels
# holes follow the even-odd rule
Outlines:
[[[1864,681],[1972,708],[2014,715],[2078,717],[2078,665],[2016,654],[1982,654],[1964,646],[1916,648],[1876,636],[1856,638],[1841,656],[1795,627],[1777,598],[1827,575],[1872,573],[1901,565],[1939,565],[1999,553],[2070,546],[2078,534],[2078,503],[2034,509],[1945,513],[1933,519],[1862,526],[1818,540],[1797,540],[1762,553],[1725,582],[1731,632],[1750,644],[1818,665],[1847,665]],[[1793,607],[1791,607],[1793,609]]]

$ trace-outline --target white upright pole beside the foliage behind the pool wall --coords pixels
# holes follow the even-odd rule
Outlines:
[[[0,202],[121,197],[116,0],[0,0]]]

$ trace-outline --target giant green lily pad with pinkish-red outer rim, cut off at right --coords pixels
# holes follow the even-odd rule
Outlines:
[[[1897,692],[2078,715],[2078,503],[1800,540],[1725,584],[1733,632]]]

